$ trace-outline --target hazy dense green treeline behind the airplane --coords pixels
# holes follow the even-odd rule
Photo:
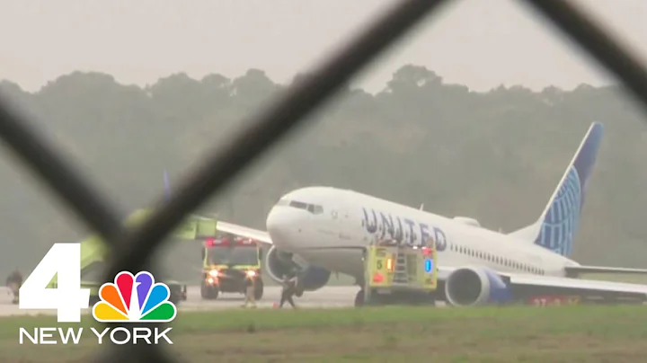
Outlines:
[[[284,89],[259,69],[233,79],[181,73],[146,87],[74,72],[36,93],[0,83],[4,98],[33,116],[124,213],[161,196],[164,169],[178,180]],[[647,132],[643,114],[616,87],[476,93],[407,65],[382,92],[347,87],[311,119],[204,209],[262,228],[281,194],[332,185],[511,231],[538,217],[589,123],[600,120],[607,134],[574,257],[645,267]],[[22,165],[7,158],[0,169],[0,272],[16,264],[29,270],[50,243],[87,233]],[[173,253],[198,263],[194,246],[175,246]],[[180,270],[187,278],[195,273],[191,266]]]

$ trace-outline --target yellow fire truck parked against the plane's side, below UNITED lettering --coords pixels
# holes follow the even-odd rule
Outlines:
[[[355,305],[430,304],[438,288],[437,261],[433,239],[422,246],[370,243],[364,255],[364,298]]]

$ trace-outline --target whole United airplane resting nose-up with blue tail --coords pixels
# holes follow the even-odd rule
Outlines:
[[[306,187],[288,192],[267,216],[267,231],[218,221],[217,230],[270,246],[265,267],[279,280],[295,267],[303,291],[323,288],[331,272],[364,285],[362,254],[375,239],[393,238],[439,252],[435,300],[448,305],[499,305],[536,296],[591,296],[605,301],[647,300],[647,286],[579,279],[581,273],[637,273],[643,269],[586,266],[569,258],[580,224],[603,125],[593,122],[536,222],[510,234],[470,217],[442,217],[353,190]],[[302,294],[303,292],[300,292]],[[300,294],[297,294],[300,296]],[[363,302],[359,290],[356,305]]]

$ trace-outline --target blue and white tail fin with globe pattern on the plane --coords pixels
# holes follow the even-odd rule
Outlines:
[[[537,221],[510,235],[569,256],[604,128],[593,122]]]

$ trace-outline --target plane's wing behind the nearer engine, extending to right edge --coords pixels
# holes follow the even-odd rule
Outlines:
[[[439,279],[447,279],[456,268],[439,267]],[[594,279],[571,279],[538,275],[497,273],[508,282],[515,295],[554,294],[554,295],[595,295],[600,297],[647,298],[647,285],[625,282],[601,281]]]

